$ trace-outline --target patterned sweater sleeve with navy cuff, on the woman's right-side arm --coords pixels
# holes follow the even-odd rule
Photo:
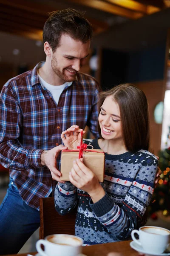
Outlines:
[[[96,217],[116,240],[129,238],[132,230],[140,226],[153,194],[158,160],[153,161],[138,171],[121,205],[116,204],[107,192],[95,204],[90,201]],[[143,175],[145,172],[148,173],[147,179]]]

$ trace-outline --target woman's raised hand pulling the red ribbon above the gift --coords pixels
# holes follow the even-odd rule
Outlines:
[[[79,129],[78,125],[72,125],[70,128],[63,131],[61,139],[65,147],[77,149],[82,139],[80,134],[82,131],[83,129]],[[85,131],[83,131],[83,134],[85,134]]]

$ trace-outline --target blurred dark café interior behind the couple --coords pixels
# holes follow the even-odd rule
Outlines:
[[[162,170],[147,224],[170,229],[170,0],[0,0],[0,90],[45,60],[48,12],[68,7],[85,11],[94,28],[81,71],[103,90],[130,82],[147,96],[151,147]],[[8,169],[0,166],[0,203],[7,186]],[[38,237],[37,230],[20,253],[35,251]]]

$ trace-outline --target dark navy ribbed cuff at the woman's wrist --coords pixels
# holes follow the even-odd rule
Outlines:
[[[114,207],[115,203],[113,202],[113,199],[107,193],[105,193],[104,197],[102,197],[95,204],[93,204],[92,200],[90,200],[89,204],[96,216],[101,217],[108,213]]]

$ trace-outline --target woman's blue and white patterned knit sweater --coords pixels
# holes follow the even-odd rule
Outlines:
[[[100,149],[98,141],[84,143]],[[65,215],[76,207],[75,235],[85,244],[102,244],[130,239],[139,228],[150,203],[158,168],[157,158],[146,150],[105,154],[105,196],[93,204],[87,192],[72,183],[58,183],[54,194],[57,212]]]

